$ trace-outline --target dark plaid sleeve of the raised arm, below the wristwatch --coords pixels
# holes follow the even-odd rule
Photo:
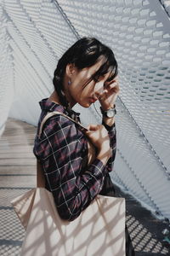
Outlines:
[[[105,126],[105,129],[108,131],[108,135],[110,137],[110,146],[112,150],[111,158],[108,160],[106,168],[107,172],[111,172],[113,170],[114,161],[116,158],[116,125],[115,123],[111,126],[105,125],[105,122],[102,122],[102,125]]]

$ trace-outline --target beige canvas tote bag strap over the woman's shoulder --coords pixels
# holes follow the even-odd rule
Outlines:
[[[46,116],[42,119],[42,123],[40,125],[40,129],[39,132],[37,134],[37,137],[41,137],[42,135],[42,129],[43,129],[43,125],[45,124],[45,122],[52,116],[56,115],[56,114],[61,114],[63,116],[65,116],[65,118],[67,119],[71,119],[69,116],[67,116],[65,113],[61,113],[59,111],[53,111],[53,112],[48,112],[46,114]],[[85,128],[84,126],[82,126],[80,123],[77,123],[77,121],[75,121],[74,119],[71,119],[72,122],[76,123],[77,125],[79,125],[82,129],[82,131],[88,131],[87,128]],[[37,188],[45,188],[45,177],[43,174],[43,170],[42,170],[42,165],[40,163],[40,161],[37,160]]]

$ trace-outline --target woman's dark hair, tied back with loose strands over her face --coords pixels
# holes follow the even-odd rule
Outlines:
[[[81,70],[84,67],[94,66],[100,60],[102,64],[99,70],[94,73],[92,79],[99,79],[99,76],[108,72],[111,72],[110,80],[114,79],[117,74],[115,56],[109,47],[100,43],[96,38],[81,38],[65,51],[65,54],[59,59],[53,79],[54,89],[58,93],[59,100],[63,106],[68,107],[63,90],[63,79],[67,64],[72,63]]]

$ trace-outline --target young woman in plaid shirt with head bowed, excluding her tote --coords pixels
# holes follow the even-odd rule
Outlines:
[[[82,38],[60,58],[54,71],[54,92],[40,102],[42,119],[58,111],[80,121],[71,108],[79,103],[88,108],[99,101],[102,125],[81,126],[62,114],[43,125],[36,137],[34,154],[41,161],[46,188],[54,195],[61,218],[74,220],[94,197],[114,195],[110,172],[116,155],[115,102],[119,93],[117,63],[110,48],[95,38]],[[88,165],[88,139],[96,155]],[[127,253],[133,255],[133,252]]]

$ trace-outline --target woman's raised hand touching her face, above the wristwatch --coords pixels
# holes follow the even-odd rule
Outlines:
[[[111,80],[111,82],[105,82],[105,90],[102,96],[99,97],[99,102],[103,110],[113,108],[116,102],[116,97],[120,91],[118,77]]]

